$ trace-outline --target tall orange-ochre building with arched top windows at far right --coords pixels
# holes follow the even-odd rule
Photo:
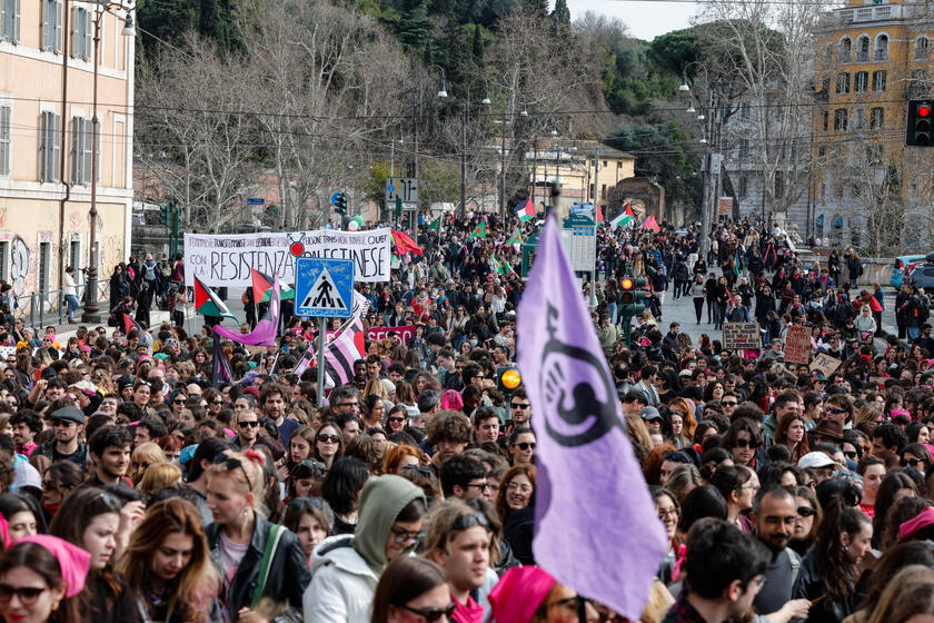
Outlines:
[[[918,200],[905,148],[910,98],[931,95],[934,13],[917,2],[851,0],[824,17],[813,115],[813,235],[831,246],[897,247]],[[925,150],[926,151],[926,150]],[[930,167],[925,168],[930,186]]]

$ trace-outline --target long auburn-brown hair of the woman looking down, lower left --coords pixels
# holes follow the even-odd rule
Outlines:
[[[191,560],[179,572],[172,589],[182,620],[203,621],[210,615],[211,601],[220,589],[220,577],[211,563],[203,520],[193,504],[180,497],[157,502],[132,533],[123,555],[121,571],[139,595],[146,595],[152,554],[166,536],[180,533],[191,537]]]

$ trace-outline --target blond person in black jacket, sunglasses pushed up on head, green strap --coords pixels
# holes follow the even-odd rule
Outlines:
[[[247,449],[218,454],[208,467],[213,523],[205,533],[225,580],[220,600],[230,621],[245,619],[261,597],[300,609],[310,580],[298,537],[287,530],[274,534],[274,524],[264,517],[264,462],[261,454]],[[262,578],[260,563],[267,556],[268,574]]]

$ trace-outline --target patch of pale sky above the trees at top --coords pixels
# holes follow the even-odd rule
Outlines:
[[[554,2],[553,2],[554,3]],[[694,4],[687,2],[635,2],[627,0],[567,0],[570,19],[587,11],[619,18],[638,39],[652,41],[670,30],[690,26]]]

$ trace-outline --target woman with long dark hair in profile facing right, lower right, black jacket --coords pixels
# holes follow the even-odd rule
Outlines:
[[[853,614],[860,564],[872,550],[873,525],[836,496],[824,508],[814,547],[804,556],[793,599],[811,600],[808,623],[839,623]]]

